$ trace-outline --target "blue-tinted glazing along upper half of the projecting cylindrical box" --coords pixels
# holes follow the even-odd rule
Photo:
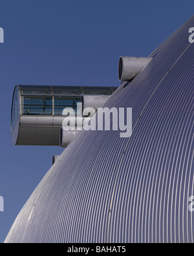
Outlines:
[[[23,95],[23,115],[52,115],[52,91],[54,91],[54,113],[62,115],[64,108],[77,111],[77,102],[81,102],[81,95],[111,95],[117,87],[95,86],[20,86]],[[17,89],[18,90],[18,89]],[[50,95],[50,96],[49,96]],[[69,95],[69,96],[65,96]],[[80,96],[79,96],[80,95]],[[16,96],[15,96],[16,97]],[[19,97],[19,96],[18,96]],[[16,102],[16,100],[14,100]],[[19,99],[18,99],[19,102]],[[15,104],[16,105],[16,104]],[[13,106],[19,111],[19,106]],[[13,115],[12,126],[16,123],[19,113]]]

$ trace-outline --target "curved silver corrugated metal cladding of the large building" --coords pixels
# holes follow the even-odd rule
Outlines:
[[[105,104],[133,108],[132,136],[83,130],[5,242],[193,242],[193,26],[194,16]]]

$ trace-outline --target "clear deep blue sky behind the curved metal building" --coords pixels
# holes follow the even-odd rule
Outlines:
[[[14,86],[118,86],[119,57],[148,56],[193,10],[193,0],[0,0],[0,242],[62,152],[12,145]]]

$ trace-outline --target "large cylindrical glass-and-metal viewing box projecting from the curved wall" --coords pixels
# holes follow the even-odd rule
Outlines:
[[[16,86],[12,99],[12,142],[14,145],[59,146],[63,110],[77,104],[82,109],[103,106],[117,87]],[[62,115],[63,113],[63,115]],[[68,113],[69,115],[69,113]]]

